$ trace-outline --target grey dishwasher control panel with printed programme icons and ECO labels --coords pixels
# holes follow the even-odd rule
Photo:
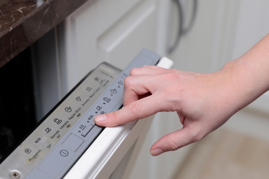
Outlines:
[[[122,107],[124,78],[130,70],[155,65],[160,58],[143,49],[123,71],[101,63],[1,160],[0,178],[63,178],[103,131],[94,117]]]

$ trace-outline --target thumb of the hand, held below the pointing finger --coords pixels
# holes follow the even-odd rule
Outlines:
[[[184,127],[175,132],[164,135],[158,141],[156,141],[151,149],[150,153],[153,156],[160,155],[164,152],[174,151],[184,147],[193,142],[199,141],[204,137],[195,128]]]

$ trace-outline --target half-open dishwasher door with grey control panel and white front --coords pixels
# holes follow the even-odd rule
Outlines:
[[[124,78],[143,65],[171,67],[172,61],[143,49],[123,71],[101,63],[1,159],[0,178],[119,178],[151,120],[105,128],[94,117],[123,106]]]

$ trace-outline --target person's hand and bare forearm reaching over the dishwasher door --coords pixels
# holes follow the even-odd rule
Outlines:
[[[156,156],[198,141],[269,90],[269,34],[242,57],[214,73],[156,66],[133,68],[124,80],[123,106],[95,123],[116,126],[157,112],[176,111],[183,128],[155,142]],[[165,119],[163,119],[165,120]]]

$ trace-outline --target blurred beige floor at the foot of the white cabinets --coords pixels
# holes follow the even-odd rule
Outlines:
[[[269,178],[269,142],[218,129],[196,142],[174,179]]]

